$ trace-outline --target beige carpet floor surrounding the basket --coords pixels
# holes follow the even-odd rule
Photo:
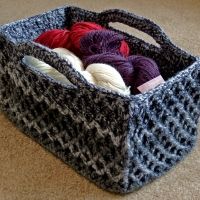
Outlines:
[[[121,8],[146,16],[162,25],[177,45],[200,55],[199,0],[0,0],[0,24],[66,4],[96,11]],[[144,35],[132,32],[139,37]],[[0,199],[199,200],[200,140],[193,152],[167,175],[137,192],[120,196],[103,191],[78,175],[0,114]]]

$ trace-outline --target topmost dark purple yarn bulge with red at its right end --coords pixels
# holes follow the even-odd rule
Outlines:
[[[91,56],[101,53],[116,53],[127,56],[129,48],[123,39],[123,35],[110,30],[90,31],[80,39],[81,54]],[[121,50],[122,52],[120,52]]]

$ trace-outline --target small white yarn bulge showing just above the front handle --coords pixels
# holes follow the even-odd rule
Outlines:
[[[56,52],[61,58],[65,59],[65,60],[69,60],[72,63],[73,68],[75,68],[77,71],[80,72],[80,71],[84,70],[83,63],[80,60],[80,58],[78,58],[76,55],[74,55],[68,49],[55,48],[55,49],[53,49],[53,51]]]

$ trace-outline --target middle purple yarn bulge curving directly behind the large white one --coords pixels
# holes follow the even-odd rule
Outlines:
[[[122,76],[126,85],[133,82],[134,67],[125,57],[114,53],[102,53],[84,57],[84,66],[92,63],[103,63],[114,67]]]

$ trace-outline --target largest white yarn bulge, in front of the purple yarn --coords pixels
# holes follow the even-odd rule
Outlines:
[[[130,94],[130,87],[127,87],[120,73],[110,65],[93,63],[87,66],[86,71],[91,73],[95,84],[120,92],[124,95]]]

